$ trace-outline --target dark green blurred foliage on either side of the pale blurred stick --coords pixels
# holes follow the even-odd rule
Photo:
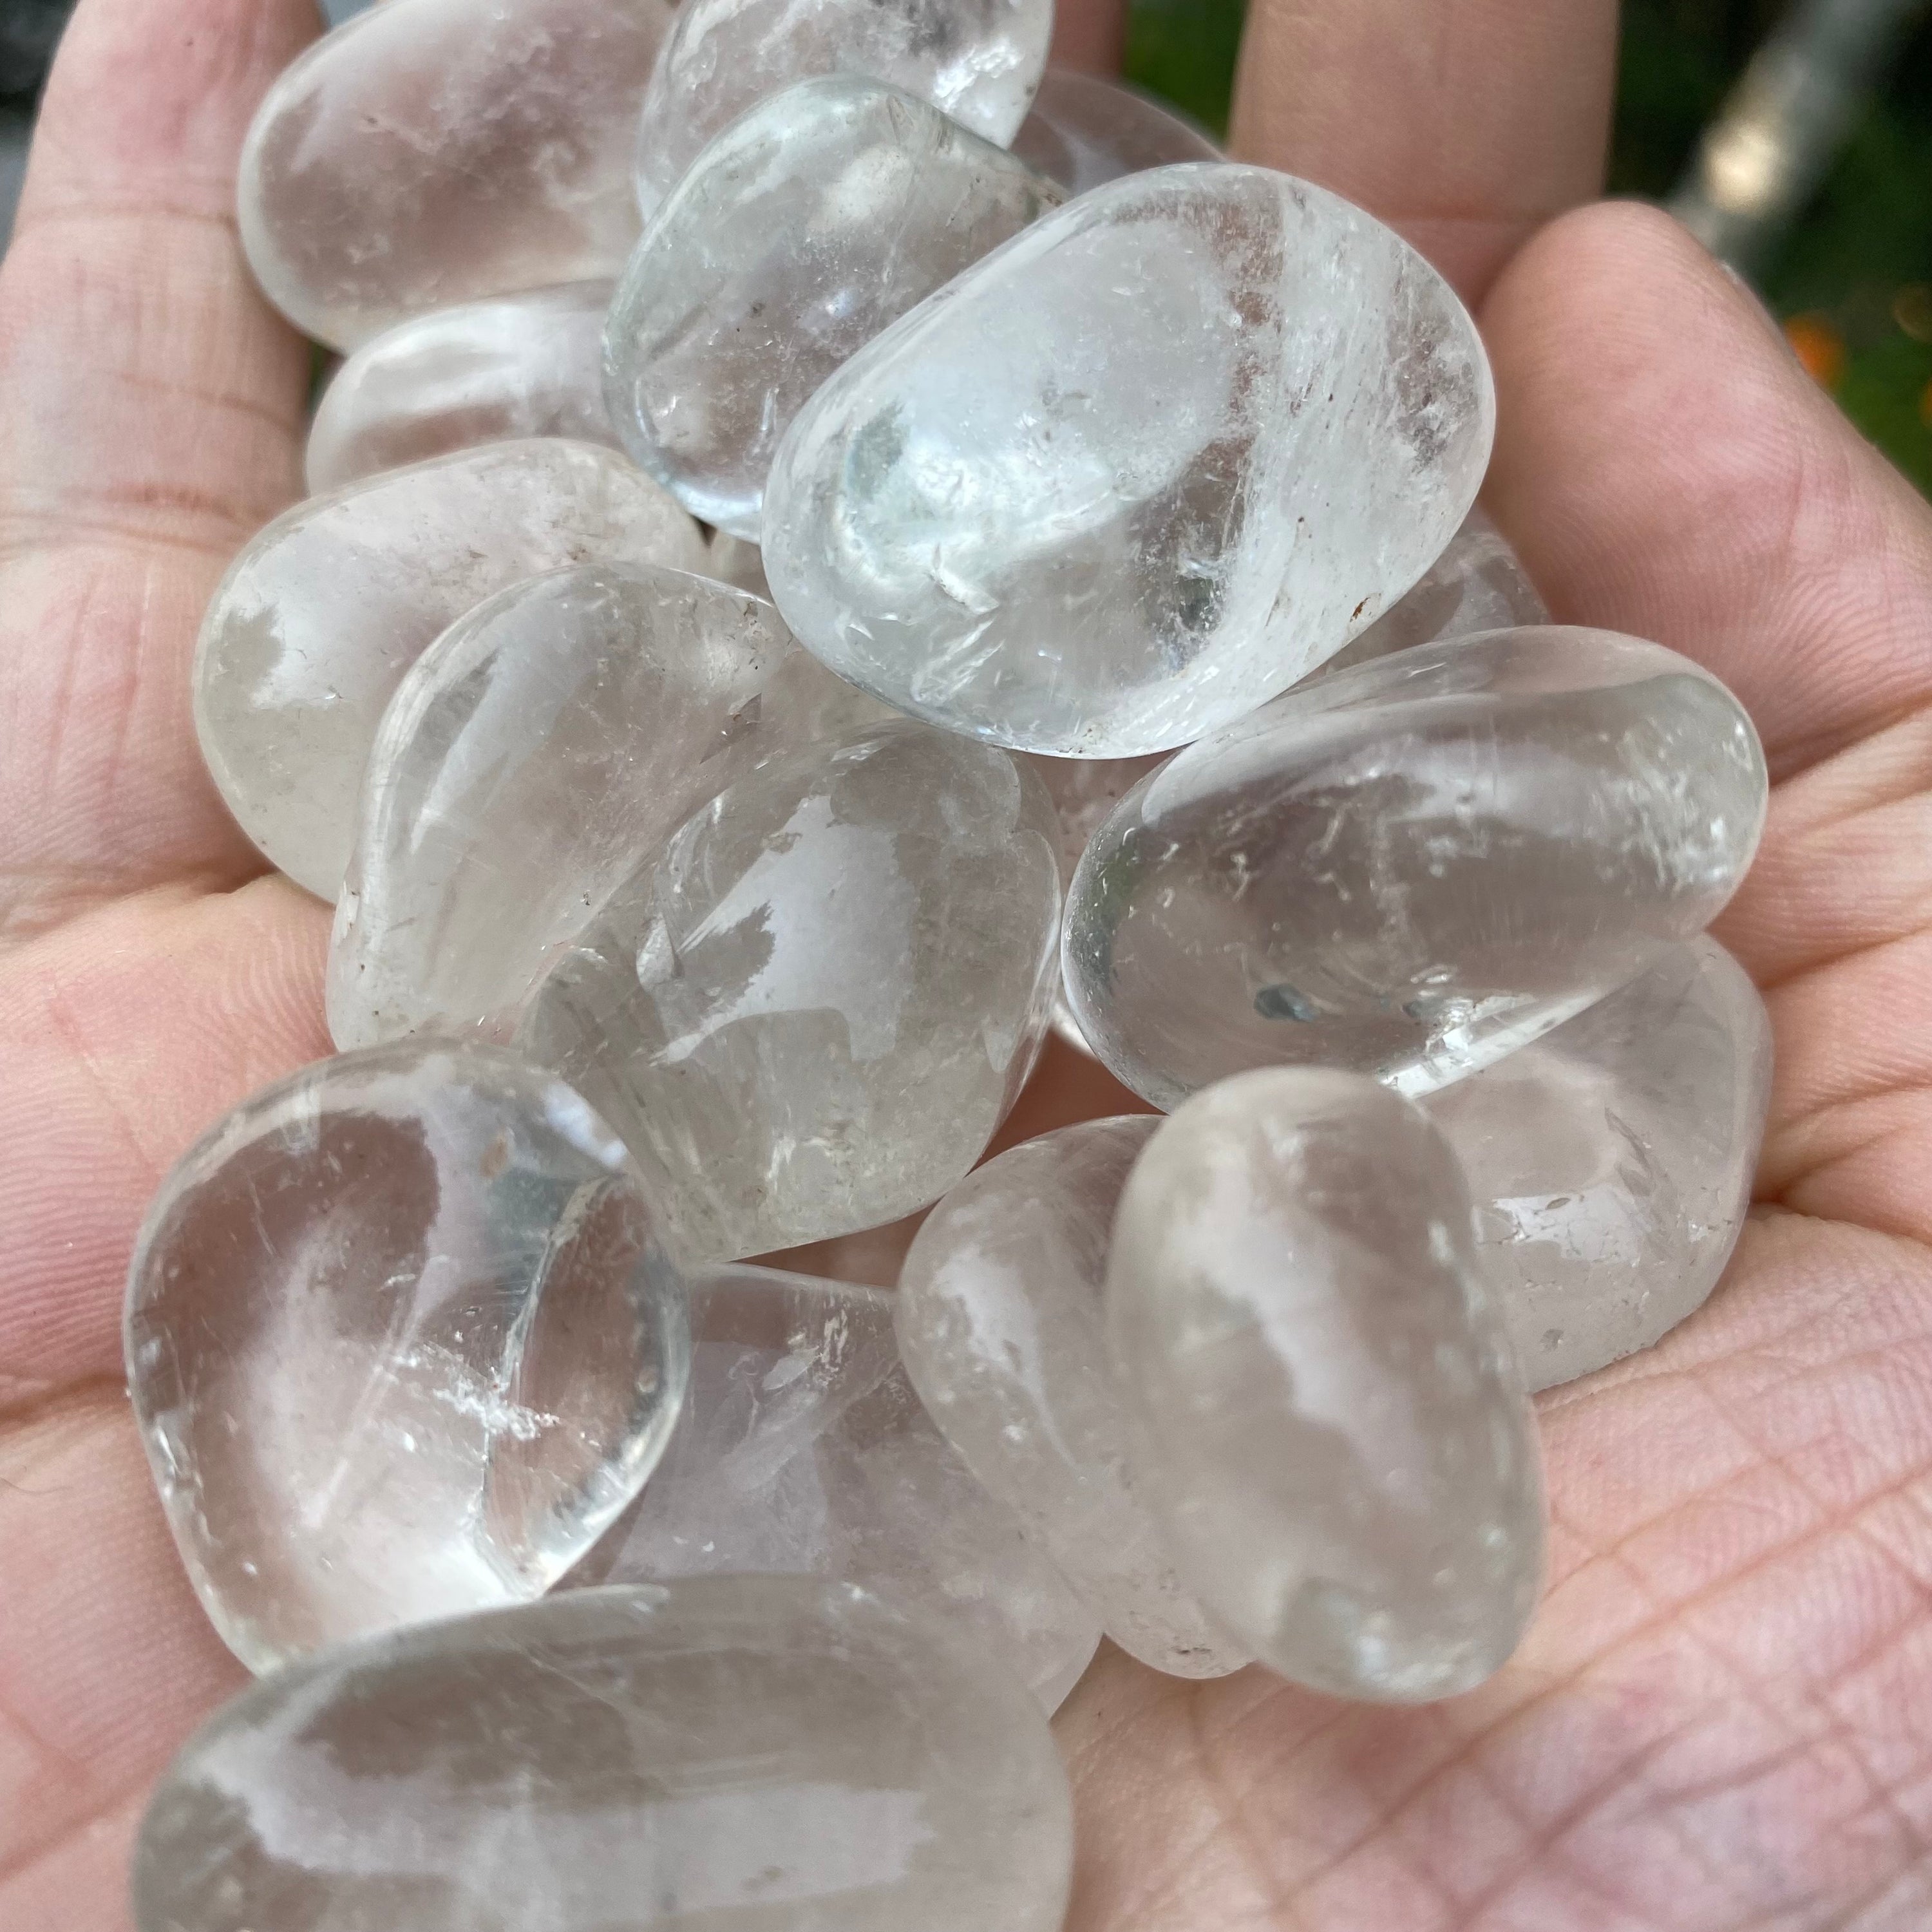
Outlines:
[[[1781,0],[1625,0],[1615,193],[1671,191],[1781,14]],[[1136,0],[1128,75],[1221,131],[1240,19],[1240,0]],[[1812,375],[1932,493],[1932,23],[1905,43],[1760,286]]]

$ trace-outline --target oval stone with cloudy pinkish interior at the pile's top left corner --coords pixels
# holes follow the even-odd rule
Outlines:
[[[242,245],[298,328],[348,350],[427,309],[612,276],[665,0],[384,0],[269,89]]]

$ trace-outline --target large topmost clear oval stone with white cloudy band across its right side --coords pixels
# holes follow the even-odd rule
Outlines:
[[[798,639],[883,701],[1130,757],[1252,711],[1441,554],[1490,369],[1393,230],[1265,168],[1097,187],[900,317],[765,485]]]

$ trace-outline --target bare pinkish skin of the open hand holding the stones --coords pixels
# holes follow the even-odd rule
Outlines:
[[[328,916],[195,753],[224,560],[299,491],[307,352],[230,214],[305,0],[81,0],[0,269],[0,1924],[112,1932],[149,1785],[240,1683],[162,1528],[120,1294],[168,1163],[328,1049]],[[1105,60],[1117,25],[1072,10]],[[1665,218],[1586,207],[1602,0],[1260,0],[1242,155],[1478,307],[1488,502],[1559,618],[1747,701],[1721,937],[1779,1072],[1710,1306],[1540,1405],[1548,1596],[1430,1710],[1103,1652],[1059,1719],[1074,1932],[1824,1932],[1932,1915],[1932,512]],[[1565,213],[1573,211],[1573,213]],[[1032,1126],[1121,1097],[1049,1059]],[[877,1260],[877,1258],[875,1258]]]

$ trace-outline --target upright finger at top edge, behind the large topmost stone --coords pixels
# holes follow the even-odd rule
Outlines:
[[[1476,301],[1604,180],[1615,0],[1256,0],[1233,149],[1358,201]]]

